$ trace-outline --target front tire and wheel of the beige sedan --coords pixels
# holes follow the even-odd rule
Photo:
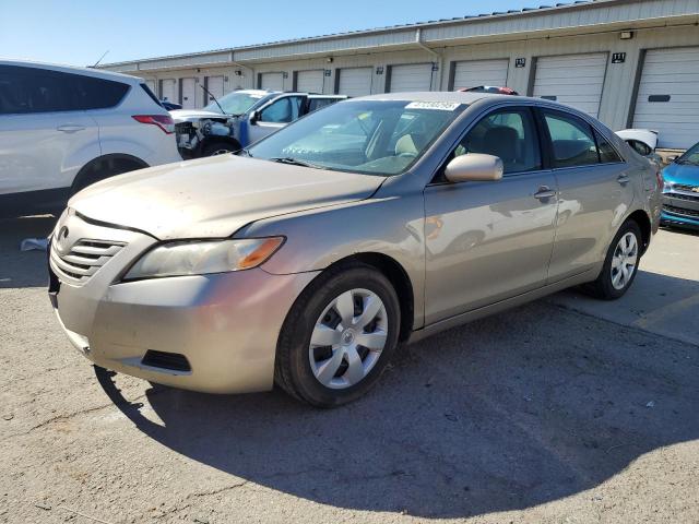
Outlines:
[[[296,300],[280,335],[275,382],[318,407],[364,395],[395,352],[401,311],[395,289],[374,267],[331,269]]]

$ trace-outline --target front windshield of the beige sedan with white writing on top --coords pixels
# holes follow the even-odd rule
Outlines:
[[[465,107],[435,102],[341,102],[281,129],[247,152],[256,158],[388,177],[414,164]]]

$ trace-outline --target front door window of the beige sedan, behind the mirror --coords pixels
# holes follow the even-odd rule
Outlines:
[[[469,153],[500,157],[505,174],[541,169],[538,139],[531,111],[507,109],[483,118],[454,150],[454,156]]]

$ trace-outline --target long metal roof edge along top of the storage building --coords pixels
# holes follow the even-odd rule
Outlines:
[[[458,16],[370,29],[333,33],[287,40],[229,47],[209,51],[112,62],[105,69],[133,71],[159,68],[213,66],[230,62],[279,60],[285,57],[340,53],[359,48],[414,45],[416,32],[429,45],[490,35],[556,31],[577,26],[603,26],[638,20],[699,14],[699,5],[686,0],[577,0],[567,3],[524,8],[506,12]]]

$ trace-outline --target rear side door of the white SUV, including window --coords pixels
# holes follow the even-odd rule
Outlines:
[[[97,124],[82,110],[82,80],[0,66],[0,194],[58,191],[66,196],[83,165],[99,156]]]

